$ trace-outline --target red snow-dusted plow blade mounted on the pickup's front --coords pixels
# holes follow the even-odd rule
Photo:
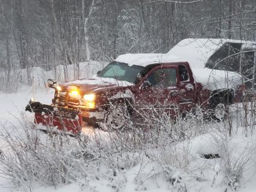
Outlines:
[[[35,113],[34,123],[57,128],[61,132],[77,135],[81,132],[82,117],[79,110],[30,101],[25,111]]]

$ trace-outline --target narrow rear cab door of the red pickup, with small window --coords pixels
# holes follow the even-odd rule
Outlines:
[[[191,70],[184,64],[178,65],[179,94],[178,103],[181,111],[191,111],[196,104],[196,84]]]

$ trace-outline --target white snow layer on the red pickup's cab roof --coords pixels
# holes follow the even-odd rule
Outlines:
[[[116,58],[119,63],[127,63],[129,66],[137,65],[146,67],[154,63],[187,62],[184,58],[170,54],[124,54]]]

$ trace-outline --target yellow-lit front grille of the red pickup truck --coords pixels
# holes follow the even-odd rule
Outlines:
[[[79,99],[70,98],[66,91],[58,92],[57,105],[60,107],[77,108],[80,105]]]

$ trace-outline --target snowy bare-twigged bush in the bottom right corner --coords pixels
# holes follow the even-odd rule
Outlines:
[[[243,174],[255,156],[255,146],[251,140],[231,138],[225,128],[217,128],[213,135],[213,146],[219,151],[220,169],[226,183],[235,191],[240,187]]]

